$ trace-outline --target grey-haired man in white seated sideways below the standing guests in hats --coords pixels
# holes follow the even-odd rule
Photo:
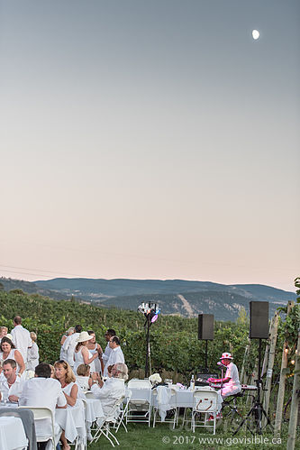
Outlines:
[[[116,363],[112,369],[112,378],[102,381],[97,373],[92,373],[89,381],[95,399],[101,399],[105,416],[108,417],[114,407],[115,400],[125,394],[124,381],[128,378],[127,365]]]

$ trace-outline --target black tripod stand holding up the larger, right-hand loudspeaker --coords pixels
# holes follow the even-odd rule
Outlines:
[[[256,434],[261,435],[261,433],[262,433],[262,418],[263,417],[266,418],[267,425],[272,427],[271,421],[268,418],[268,414],[265,411],[265,409],[262,406],[262,403],[260,401],[260,390],[261,390],[261,387],[262,387],[262,380],[260,378],[260,362],[261,362],[260,359],[261,359],[261,339],[259,338],[259,373],[258,373],[258,380],[255,380],[258,393],[256,395],[256,399],[255,399],[255,401],[253,403],[252,408],[250,409],[250,411],[247,414],[247,416],[242,419],[241,424],[234,431],[233,436],[236,435],[238,433],[238,431],[240,431],[240,429],[244,425],[244,423],[246,423],[247,421],[250,421],[251,419],[254,422],[254,427],[252,427],[252,428],[249,427],[249,424],[247,424],[247,427],[250,430],[250,432],[252,433],[252,435],[256,435]],[[267,427],[267,425],[266,425],[266,427]]]

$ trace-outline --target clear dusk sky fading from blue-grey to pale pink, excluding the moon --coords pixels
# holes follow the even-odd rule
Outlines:
[[[299,19],[298,0],[0,0],[0,276],[295,290]]]

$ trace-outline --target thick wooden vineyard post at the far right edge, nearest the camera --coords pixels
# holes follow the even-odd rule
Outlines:
[[[294,384],[293,384],[291,411],[289,416],[286,450],[294,450],[295,448],[295,431],[297,427],[297,418],[298,418],[299,390],[300,390],[300,327],[298,329],[297,352],[295,354]]]

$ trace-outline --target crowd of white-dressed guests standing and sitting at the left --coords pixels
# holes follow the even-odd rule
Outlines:
[[[14,317],[14,328],[0,327],[0,399],[21,406],[55,409],[81,406],[85,390],[101,399],[105,415],[125,392],[128,369],[120,340],[113,328],[105,333],[106,347],[96,343],[93,330],[82,326],[68,328],[62,336],[59,360],[50,365],[39,363],[37,335],[22,326],[22,318]],[[107,378],[106,378],[107,377]],[[55,417],[55,415],[54,415]],[[50,423],[39,423],[37,435],[45,435]],[[68,450],[64,430],[56,425],[63,450]],[[40,444],[40,449],[46,444]]]

